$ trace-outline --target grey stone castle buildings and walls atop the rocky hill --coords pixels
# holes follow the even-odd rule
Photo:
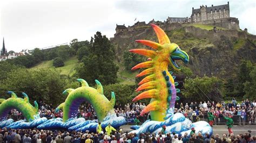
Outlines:
[[[143,30],[149,24],[207,24],[227,29],[240,30],[238,18],[230,17],[230,3],[217,6],[202,5],[199,9],[192,8],[191,16],[188,17],[168,17],[166,21],[160,22],[152,19],[148,24],[137,22],[132,26],[116,25],[116,36],[119,33]],[[247,30],[247,29],[246,29]]]

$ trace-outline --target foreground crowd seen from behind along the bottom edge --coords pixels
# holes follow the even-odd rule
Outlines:
[[[176,133],[128,133],[120,130],[107,134],[97,134],[86,132],[68,132],[68,131],[50,131],[50,130],[34,130],[23,129],[7,129],[0,128],[0,143],[229,143],[229,142],[256,142],[256,136],[251,135],[250,131],[234,135],[234,134],[198,134],[191,132],[184,135]]]

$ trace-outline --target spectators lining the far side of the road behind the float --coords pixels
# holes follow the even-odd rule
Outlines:
[[[135,118],[140,115],[140,112],[145,108],[145,103],[127,103],[125,105],[116,105],[114,111],[117,116],[123,116],[125,118]],[[52,105],[39,102],[39,116],[46,117],[48,119],[62,117],[63,112],[55,112],[55,108]],[[174,112],[183,113],[183,115],[191,120],[199,121],[202,118],[207,118],[207,112],[212,112],[215,117],[215,123],[220,122],[220,117],[230,114],[232,116],[239,116],[239,121],[245,124],[255,123],[256,116],[256,102],[249,101],[248,99],[238,103],[235,98],[228,103],[217,102],[191,102],[191,103],[179,103],[176,102]],[[11,110],[10,115],[21,115],[17,110]],[[144,115],[144,117],[149,115]],[[96,112],[89,103],[80,105],[77,117],[84,117],[87,119],[97,119]],[[196,117],[196,118],[193,118]]]

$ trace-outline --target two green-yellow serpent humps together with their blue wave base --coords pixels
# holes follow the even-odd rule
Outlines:
[[[116,96],[114,92],[111,93],[111,100],[109,101],[103,94],[102,84],[95,80],[97,89],[89,87],[88,83],[83,79],[78,79],[82,85],[77,89],[66,89],[63,94],[68,94],[65,102],[56,108],[56,112],[63,110],[63,119],[46,119],[38,116],[38,105],[35,102],[35,108],[29,103],[28,96],[23,92],[24,99],[18,98],[14,92],[9,91],[11,98],[0,99],[0,117],[5,117],[11,109],[17,109],[22,112],[25,120],[14,122],[12,119],[3,120],[0,122],[0,127],[10,128],[33,128],[38,129],[66,129],[70,131],[86,131],[96,132],[98,121],[102,123],[105,128],[108,124],[118,128],[125,124],[124,117],[117,117],[113,110],[116,103]],[[96,112],[97,120],[85,120],[84,118],[76,118],[79,105],[83,102],[89,102]]]

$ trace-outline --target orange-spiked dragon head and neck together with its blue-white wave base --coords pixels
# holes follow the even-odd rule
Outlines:
[[[131,49],[130,52],[147,56],[148,61],[139,63],[132,70],[138,68],[146,68],[136,77],[146,76],[139,82],[139,87],[136,91],[142,91],[133,102],[139,99],[151,98],[150,104],[147,105],[140,115],[150,112],[151,120],[147,120],[140,127],[132,127],[134,133],[154,132],[159,133],[162,126],[166,126],[166,132],[176,132],[184,134],[190,133],[190,128],[196,128],[197,132],[203,134],[212,134],[212,128],[206,121],[191,121],[184,117],[181,113],[173,114],[175,102],[179,99],[176,89],[178,85],[174,82],[175,76],[172,76],[168,71],[168,66],[171,65],[174,70],[180,70],[176,60],[181,60],[188,63],[189,57],[186,52],[181,51],[177,44],[171,43],[165,32],[157,25],[151,24],[154,32],[157,34],[159,43],[149,40],[136,40],[140,44],[144,44],[153,48],[150,49]]]

